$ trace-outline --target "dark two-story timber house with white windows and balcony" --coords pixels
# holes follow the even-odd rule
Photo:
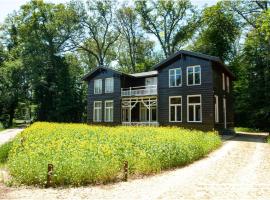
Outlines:
[[[181,50],[153,69],[125,74],[97,67],[85,75],[88,123],[233,127],[234,75],[219,58]]]

